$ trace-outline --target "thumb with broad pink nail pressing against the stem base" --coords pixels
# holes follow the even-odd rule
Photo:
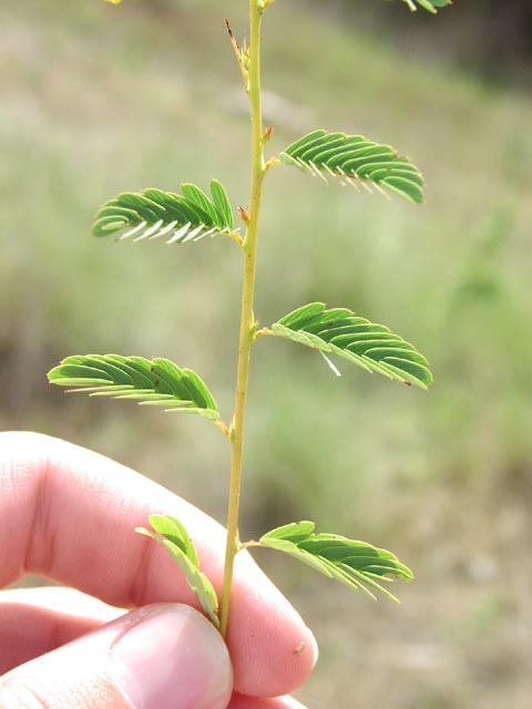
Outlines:
[[[0,678],[0,709],[225,709],[221,635],[178,604],[133,610]]]

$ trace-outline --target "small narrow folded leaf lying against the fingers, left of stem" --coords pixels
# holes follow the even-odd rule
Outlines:
[[[205,614],[215,627],[219,627],[216,593],[208,578],[200,571],[196,549],[185,527],[170,515],[152,514],[149,520],[154,532],[144,527],[136,527],[135,532],[160,542],[172,554]]]

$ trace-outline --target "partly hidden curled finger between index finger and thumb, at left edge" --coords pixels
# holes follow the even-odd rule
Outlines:
[[[73,588],[0,592],[0,675],[98,628],[125,610]]]

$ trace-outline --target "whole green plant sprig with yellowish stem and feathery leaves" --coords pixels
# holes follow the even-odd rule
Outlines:
[[[117,3],[120,0],[109,0]],[[137,531],[162,543],[183,571],[203,609],[219,628],[227,631],[233,564],[236,553],[246,546],[266,546],[283,551],[303,561],[348,587],[361,589],[375,598],[374,590],[395,598],[381,584],[391,577],[410,580],[412,573],[393,554],[370,544],[335,534],[316,534],[314,523],[300,522],[274,530],[258,543],[238,543],[238,501],[242,476],[244,413],[246,405],[250,350],[258,337],[254,316],[256,245],[263,184],[268,167],[282,162],[295,165],[325,182],[334,178],[344,185],[374,188],[387,195],[396,193],[407,201],[423,202],[424,182],[418,168],[407,157],[388,145],[380,145],[361,135],[330,133],[324,130],[304,135],[279,156],[266,163],[264,144],[272,129],[264,130],[260,102],[260,23],[265,9],[274,0],[249,3],[249,40],[239,47],[226,21],[229,39],[249,99],[252,119],[252,185],[250,204],[241,208],[246,224],[245,238],[234,229],[233,208],[222,184],[211,182],[211,196],[197,186],[185,183],[181,194],[149,188],[139,193],[122,193],[106,202],[98,212],[92,233],[96,237],[115,236],[134,240],[163,238],[166,244],[182,244],[206,236],[225,235],[241,246],[244,255],[242,285],[241,336],[237,361],[235,411],[231,428],[219,421],[217,405],[197,374],[181,369],[166,359],[146,360],[117,354],[74,356],[64,359],[49,372],[49,380],[73,391],[90,395],[132,399],[146,405],[164,407],[166,411],[197,413],[214,420],[226,434],[232,448],[227,544],[225,573],[218,614],[216,594],[198,568],[194,545],[173,517],[152,515],[152,530]],[[415,0],[405,0],[412,10]],[[449,0],[417,0],[420,7],[436,12]],[[346,308],[327,310],[314,302],[290,312],[262,335],[291,339],[327,353],[338,354],[369,372],[426,389],[432,381],[427,360],[412,345]],[[327,360],[329,361],[329,360]],[[331,364],[331,362],[329,361]],[[331,364],[334,368],[334,366]]]

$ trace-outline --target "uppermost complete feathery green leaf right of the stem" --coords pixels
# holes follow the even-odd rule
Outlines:
[[[416,204],[424,198],[424,181],[418,168],[389,145],[371,143],[361,135],[313,131],[295,141],[279,157],[285,164],[300,167],[325,182],[334,178],[342,185],[358,188],[360,184],[379,192],[386,187]]]

